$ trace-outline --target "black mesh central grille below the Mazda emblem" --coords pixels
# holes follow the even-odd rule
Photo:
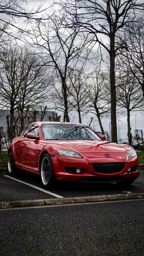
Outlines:
[[[118,173],[122,171],[125,163],[92,163],[96,173]]]

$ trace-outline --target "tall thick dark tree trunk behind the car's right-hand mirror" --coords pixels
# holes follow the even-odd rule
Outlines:
[[[110,95],[111,95],[111,131],[112,142],[117,143],[116,125],[116,80],[115,80],[115,37],[110,38]]]

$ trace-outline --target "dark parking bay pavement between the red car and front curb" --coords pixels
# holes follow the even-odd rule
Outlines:
[[[119,187],[116,183],[76,183],[58,182],[53,189],[45,189],[41,184],[41,178],[29,173],[19,171],[14,179],[37,186],[44,191],[58,195],[59,197],[84,197],[110,194],[142,193],[144,192],[144,171],[140,171],[140,176],[133,184],[126,187]],[[29,200],[55,198],[50,194],[39,191],[29,185],[19,183],[6,176],[0,177],[0,201]]]

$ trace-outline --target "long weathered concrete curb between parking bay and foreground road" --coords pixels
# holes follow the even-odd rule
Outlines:
[[[9,202],[0,202],[0,209],[46,206],[46,205],[67,204],[67,203],[69,204],[69,203],[88,203],[88,202],[101,202],[101,201],[113,201],[113,200],[130,200],[130,199],[142,199],[142,198],[144,198],[144,193],[9,201]]]

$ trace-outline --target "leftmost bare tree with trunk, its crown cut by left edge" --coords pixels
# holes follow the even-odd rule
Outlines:
[[[1,96],[1,105],[3,107],[10,107],[10,130],[11,137],[14,137],[13,131],[13,116],[14,110],[18,103],[18,93],[20,88],[21,76],[18,77],[19,67],[17,66],[17,61],[19,59],[19,50],[17,48],[10,49],[6,48],[1,51],[1,68],[0,68],[0,96]]]

